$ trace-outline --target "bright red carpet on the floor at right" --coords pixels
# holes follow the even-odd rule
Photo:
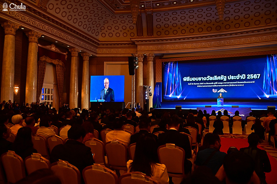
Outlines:
[[[236,138],[224,138],[221,137],[221,148],[220,151],[227,153],[229,147],[234,146],[238,149],[242,147],[248,147],[247,139],[236,139]],[[263,149],[258,146],[259,149]],[[268,184],[276,184],[277,182],[277,160],[267,153],[271,164],[271,172],[266,173],[266,181]]]

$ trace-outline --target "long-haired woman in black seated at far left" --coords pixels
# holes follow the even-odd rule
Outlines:
[[[37,153],[32,142],[32,129],[30,127],[19,128],[14,143],[11,146],[11,151],[14,151],[23,160],[33,153]]]

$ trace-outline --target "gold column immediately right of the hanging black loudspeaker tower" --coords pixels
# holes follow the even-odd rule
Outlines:
[[[139,58],[139,68],[137,69],[137,80],[136,80],[136,102],[140,103],[143,108],[143,54],[134,54],[135,57]]]

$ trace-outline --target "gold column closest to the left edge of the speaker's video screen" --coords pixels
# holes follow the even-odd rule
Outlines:
[[[82,109],[89,107],[89,53],[82,53],[83,73],[82,73]]]

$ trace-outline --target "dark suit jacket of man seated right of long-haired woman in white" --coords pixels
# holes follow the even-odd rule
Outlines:
[[[175,144],[183,148],[186,152],[186,159],[191,158],[191,144],[187,135],[179,133],[177,130],[168,130],[167,132],[159,134],[158,144],[159,146],[166,143]]]

